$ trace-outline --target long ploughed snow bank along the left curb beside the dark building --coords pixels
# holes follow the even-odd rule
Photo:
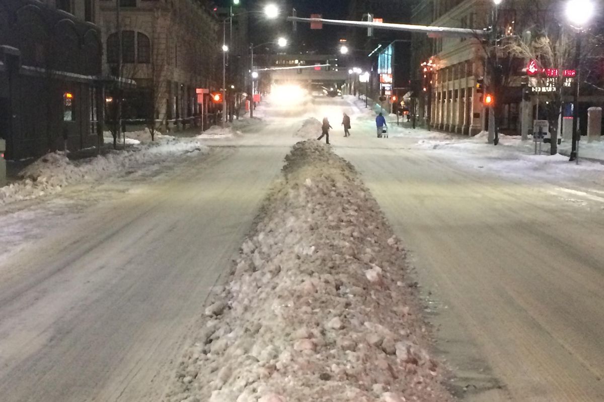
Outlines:
[[[207,152],[207,146],[196,140],[163,139],[127,151],[112,151],[83,160],[69,160],[65,152],[44,155],[25,168],[24,179],[0,187],[0,204],[36,198],[60,191],[68,184],[103,180],[132,174],[145,168],[156,168],[167,159]]]

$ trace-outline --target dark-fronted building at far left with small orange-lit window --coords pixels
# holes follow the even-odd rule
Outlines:
[[[97,143],[101,49],[94,24],[37,1],[0,0],[0,136],[6,159]]]

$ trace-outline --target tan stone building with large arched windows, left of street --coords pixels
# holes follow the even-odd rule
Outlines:
[[[196,90],[219,89],[222,68],[221,27],[211,4],[121,0],[119,21],[121,71],[116,2],[100,0],[104,69],[137,83],[124,93],[123,118],[136,124],[153,116],[156,126],[173,130],[207,114],[208,102],[200,105]]]

